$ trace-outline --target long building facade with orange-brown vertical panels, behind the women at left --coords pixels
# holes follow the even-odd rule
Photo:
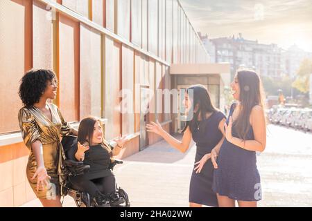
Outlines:
[[[172,64],[208,62],[176,0],[1,0],[0,206],[35,198],[17,120],[19,80],[27,70],[55,71],[59,86],[53,103],[73,126],[94,115],[105,124],[107,140],[129,135],[122,158],[160,139],[146,133],[146,122],[157,119],[166,131],[174,127],[170,113],[152,110],[162,96],[155,93],[142,105],[146,90],[171,89]],[[210,82],[223,84],[217,75]],[[128,112],[121,105],[122,90],[132,92]]]

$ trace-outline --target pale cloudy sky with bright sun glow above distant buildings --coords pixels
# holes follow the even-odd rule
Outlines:
[[[180,0],[196,31],[312,52],[312,0]]]

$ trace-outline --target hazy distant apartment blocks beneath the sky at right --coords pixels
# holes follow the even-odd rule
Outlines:
[[[238,37],[219,37],[209,39],[207,35],[201,35],[202,42],[211,56],[211,62],[231,64],[231,75],[234,76],[240,67],[253,69],[262,76],[274,79],[281,77],[294,77],[305,58],[312,58],[311,52],[305,52],[297,46],[291,46],[288,50],[279,48],[277,44],[259,44]]]

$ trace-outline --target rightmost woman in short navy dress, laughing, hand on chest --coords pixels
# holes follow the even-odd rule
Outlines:
[[[261,182],[256,151],[266,148],[266,119],[262,86],[257,73],[241,70],[231,84],[236,103],[225,124],[225,141],[214,171],[213,190],[219,206],[257,206]]]

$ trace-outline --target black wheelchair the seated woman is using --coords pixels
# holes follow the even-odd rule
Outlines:
[[[62,173],[67,177],[67,179],[62,182],[61,189],[62,195],[69,195],[76,203],[77,207],[96,207],[97,204],[94,199],[90,198],[89,193],[84,191],[80,188],[80,186],[76,186],[75,184],[71,183],[70,177],[81,175],[83,173],[87,173],[88,169],[90,168],[89,165],[84,165],[83,162],[79,162],[74,157],[75,153],[73,153],[73,145],[77,142],[77,137],[74,136],[64,136],[62,137],[62,146],[64,148],[64,154],[66,160],[64,160],[63,170]],[[122,164],[121,160],[111,160],[110,169],[113,170],[116,164]],[[102,186],[96,184],[98,190],[102,191]],[[120,198],[123,198],[123,204],[119,204],[116,207],[130,207],[130,201],[128,198],[128,194],[118,187],[116,184],[116,193],[119,194]]]

